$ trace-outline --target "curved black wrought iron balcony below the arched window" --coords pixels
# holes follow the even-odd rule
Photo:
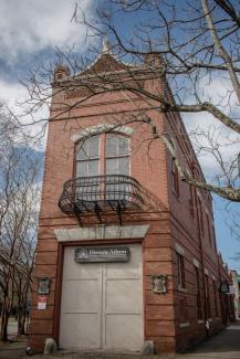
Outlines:
[[[122,212],[140,209],[144,205],[140,183],[122,175],[74,178],[64,183],[59,207],[66,214],[81,220],[83,213],[94,212],[100,222],[104,210],[117,212],[122,223]]]

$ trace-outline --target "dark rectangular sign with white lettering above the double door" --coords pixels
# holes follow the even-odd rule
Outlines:
[[[74,260],[79,263],[128,262],[129,257],[127,246],[81,246],[74,252]]]

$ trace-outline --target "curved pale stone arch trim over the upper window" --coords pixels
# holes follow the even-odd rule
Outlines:
[[[128,126],[124,126],[124,125],[119,126],[119,125],[115,125],[115,124],[100,124],[96,126],[91,126],[91,127],[84,128],[80,133],[73,135],[71,137],[71,139],[73,142],[77,142],[81,139],[88,138],[90,136],[93,136],[93,135],[105,134],[109,130],[115,130],[117,133],[121,133],[121,134],[127,135],[127,136],[131,136],[134,133],[134,129]]]

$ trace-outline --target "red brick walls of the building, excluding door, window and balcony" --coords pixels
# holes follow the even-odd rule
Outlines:
[[[106,70],[115,74],[118,72],[119,76],[124,76],[125,68],[125,65],[105,54],[92,67],[92,72],[90,68],[82,77],[86,81],[88,75],[94,75],[94,71],[100,73]],[[73,243],[71,241],[64,245],[59,243],[54,230],[80,226],[74,217],[64,214],[58,205],[64,182],[75,177],[75,145],[71,137],[84,128],[100,124],[115,124],[118,120],[126,124],[127,116],[137,115],[140,110],[155,122],[157,130],[174,134],[175,145],[186,168],[202,178],[178,115],[159,114],[149,109],[137,96],[123,91],[95,95],[81,104],[86,91],[79,86],[77,89],[71,87],[66,75],[65,67],[59,68],[55,74],[59,82],[53,85],[45,154],[29,339],[29,345],[35,351],[43,350],[44,339],[48,337],[59,340],[62,257],[64,245]],[[127,78],[126,74],[125,76]],[[139,76],[143,86],[156,92],[161,91],[166,96],[170,96],[164,81],[160,83],[159,80],[145,80],[143,74]],[[59,85],[62,86],[61,91]],[[77,102],[79,105],[75,106]],[[123,213],[123,226],[149,224],[144,239],[132,240],[140,242],[143,246],[145,339],[154,341],[156,352],[182,351],[208,335],[219,331],[230,319],[226,313],[223,303],[226,299],[223,295],[219,295],[219,283],[230,281],[230,277],[217,253],[211,197],[207,192],[191,189],[184,182],[179,182],[178,196],[174,186],[173,158],[165,145],[159,140],[149,145],[147,139],[152,134],[148,125],[135,122],[126,126],[134,130],[131,135],[131,177],[138,180],[142,187],[155,197],[152,208],[147,211]],[[108,211],[107,215],[103,215],[103,223],[118,224],[116,213]],[[84,215],[84,226],[95,224],[97,219],[94,214]],[[129,241],[117,241],[125,242]],[[86,240],[81,243],[88,242]],[[96,239],[91,243],[101,245],[116,243],[116,240]],[[182,257],[184,263],[182,287],[178,285],[177,254]],[[155,274],[167,275],[166,294],[153,293],[152,275]],[[197,275],[198,289],[196,289]],[[36,308],[39,277],[52,279],[45,310]]]

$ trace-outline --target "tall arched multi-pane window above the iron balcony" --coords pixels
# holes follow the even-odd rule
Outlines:
[[[129,176],[129,139],[115,133],[95,135],[76,146],[76,177]]]

